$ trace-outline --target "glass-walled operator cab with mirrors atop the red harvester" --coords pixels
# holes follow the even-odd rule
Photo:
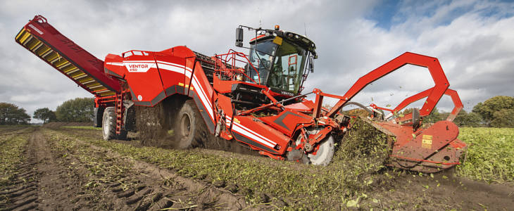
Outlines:
[[[245,81],[270,87],[280,98],[299,95],[309,70],[313,71],[313,59],[317,58],[313,41],[284,32],[278,25],[275,30],[255,30],[256,37],[250,41],[250,63],[245,67],[250,78]],[[241,26],[236,36],[236,46],[242,46]]]

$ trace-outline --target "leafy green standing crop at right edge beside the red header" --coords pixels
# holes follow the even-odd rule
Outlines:
[[[458,174],[485,181],[514,181],[514,129],[463,127],[458,139],[468,144]]]

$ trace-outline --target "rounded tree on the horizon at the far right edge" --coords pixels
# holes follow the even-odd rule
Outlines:
[[[491,122],[494,120],[494,113],[499,112],[503,109],[513,109],[514,108],[514,98],[510,96],[494,96],[489,98],[484,103],[478,103],[477,106],[473,107],[472,112],[477,113],[482,116],[485,124],[487,126],[491,126]],[[503,111],[501,113],[508,113],[508,111]],[[497,115],[500,117],[500,115]],[[496,121],[498,122],[498,121]],[[499,123],[495,123],[499,124]]]

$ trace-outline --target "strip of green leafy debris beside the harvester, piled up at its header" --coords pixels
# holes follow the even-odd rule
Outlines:
[[[385,177],[375,179],[382,177],[375,173],[384,167],[384,159],[389,151],[384,137],[375,134],[375,131],[370,134],[358,132],[368,128],[362,122],[353,124],[355,129],[351,133],[355,136],[343,140],[344,144],[340,146],[344,148],[335,153],[334,161],[328,167],[299,165],[269,158],[264,158],[266,161],[263,162],[259,157],[250,157],[256,158],[253,160],[201,151],[135,147],[81,137],[70,131],[62,132],[95,146],[109,148],[120,155],[173,170],[183,177],[203,180],[220,187],[234,184],[237,193],[250,204],[282,201],[278,204],[283,207],[313,210],[327,205],[346,207],[348,200],[362,197],[361,193],[372,190],[375,186],[373,181],[387,180]],[[361,140],[356,139],[357,136]],[[334,194],[341,194],[341,197],[334,197]]]

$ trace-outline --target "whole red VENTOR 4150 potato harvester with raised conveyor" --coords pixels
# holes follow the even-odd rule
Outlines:
[[[366,118],[394,139],[387,165],[418,172],[439,172],[459,164],[466,144],[457,139],[452,120],[463,105],[437,58],[415,53],[401,56],[357,80],[342,96],[320,89],[303,93],[303,82],[318,58],[313,41],[300,34],[239,26],[236,46],[243,47],[243,30],[255,32],[249,54],[230,50],[204,56],[175,46],[163,51],[131,50],[92,56],[36,15],[15,36],[15,41],[46,63],[94,94],[96,127],[104,139],[125,139],[127,131],[170,132],[177,148],[206,147],[205,140],[223,139],[249,146],[277,160],[328,165],[334,143],[351,127],[344,106],[356,105],[370,113]],[[403,65],[430,71],[434,87],[410,96],[394,109],[352,102],[368,84]],[[443,95],[455,108],[447,120],[422,127]],[[314,101],[306,96],[313,95]],[[336,98],[323,108],[324,98]],[[397,115],[410,103],[425,99],[420,109]],[[145,110],[160,107],[157,117]],[[384,115],[384,111],[389,115]],[[156,120],[155,120],[156,119]],[[170,123],[170,124],[168,124]],[[229,142],[230,143],[230,142]],[[341,143],[344,144],[344,143]]]

